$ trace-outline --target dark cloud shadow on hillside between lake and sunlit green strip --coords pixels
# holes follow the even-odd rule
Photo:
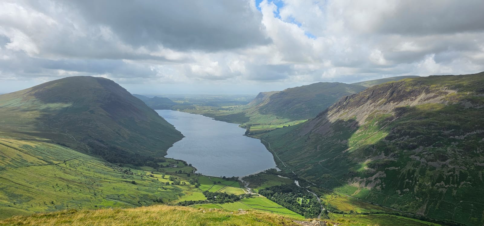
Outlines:
[[[313,178],[312,182],[333,190],[344,184],[339,180],[342,176],[360,166],[351,161],[347,151],[348,139],[359,127],[355,120],[330,122],[325,111],[301,125],[270,132],[263,139],[301,177]]]

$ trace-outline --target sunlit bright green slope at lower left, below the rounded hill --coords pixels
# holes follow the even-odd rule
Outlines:
[[[38,141],[0,138],[0,218],[64,209],[150,205],[184,195],[143,171]],[[136,184],[133,183],[135,181]]]

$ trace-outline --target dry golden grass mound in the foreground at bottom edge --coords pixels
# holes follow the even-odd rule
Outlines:
[[[96,211],[66,210],[17,216],[0,225],[116,225],[116,226],[298,226],[287,217],[257,211],[224,211],[190,207],[150,206]]]

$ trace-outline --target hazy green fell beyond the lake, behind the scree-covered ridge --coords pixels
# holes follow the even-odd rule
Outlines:
[[[315,117],[338,98],[364,89],[366,87],[340,82],[318,82],[282,91],[260,92],[247,105],[233,110],[201,114],[248,126],[298,123]],[[282,126],[281,124],[280,127]]]

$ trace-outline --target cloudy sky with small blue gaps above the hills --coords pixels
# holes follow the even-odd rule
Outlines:
[[[254,94],[484,71],[482,0],[0,0],[0,92]]]

